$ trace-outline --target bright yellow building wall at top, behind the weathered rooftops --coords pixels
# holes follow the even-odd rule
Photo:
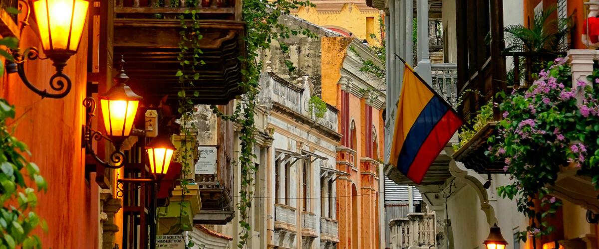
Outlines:
[[[367,7],[365,2],[338,3],[337,1],[313,1],[316,8],[299,8],[296,14],[299,18],[310,21],[318,26],[351,32],[359,39],[367,39],[368,44],[377,45],[370,34],[377,35],[380,41],[380,11]],[[324,72],[324,71],[323,71]]]

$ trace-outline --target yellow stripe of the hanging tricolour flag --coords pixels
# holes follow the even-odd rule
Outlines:
[[[397,159],[410,129],[416,122],[420,112],[432,99],[434,93],[426,87],[426,82],[420,82],[412,67],[406,64],[404,81],[401,87],[400,103],[397,106],[393,143],[391,144],[391,159],[389,162],[397,167]]]

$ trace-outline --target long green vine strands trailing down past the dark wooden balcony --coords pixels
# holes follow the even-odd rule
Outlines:
[[[198,5],[198,0],[186,1],[186,7],[195,7]],[[253,196],[253,173],[256,171],[253,160],[256,155],[253,153],[253,143],[255,143],[254,133],[255,127],[255,113],[256,113],[256,97],[258,96],[258,79],[259,73],[262,71],[263,63],[258,60],[259,52],[270,49],[270,44],[273,41],[279,39],[289,38],[291,35],[305,35],[308,38],[317,38],[317,35],[310,30],[304,28],[289,28],[284,24],[279,23],[279,18],[285,14],[289,14],[291,10],[299,7],[315,7],[309,1],[298,1],[298,0],[244,0],[242,7],[243,21],[246,29],[243,35],[243,41],[246,45],[245,54],[238,57],[241,63],[244,64],[244,69],[241,70],[243,80],[239,82],[239,87],[243,91],[242,96],[236,96],[237,102],[235,104],[234,112],[232,115],[225,115],[216,105],[211,105],[213,113],[216,116],[225,120],[232,121],[237,124],[239,134],[239,156],[232,162],[232,164],[241,167],[240,179],[240,201],[237,203],[237,210],[239,211],[239,225],[241,226],[241,232],[239,234],[238,248],[244,248],[249,239],[250,230],[250,213],[249,209],[252,207]],[[181,24],[180,34],[180,54],[179,59],[181,69],[177,71],[176,76],[179,77],[181,85],[181,91],[179,91],[179,109],[178,112],[181,115],[182,132],[184,136],[190,136],[189,128],[193,128],[194,124],[192,121],[193,112],[195,107],[190,96],[198,97],[198,92],[190,93],[189,87],[194,85],[194,81],[199,79],[199,74],[195,73],[195,69],[204,62],[199,60],[202,51],[199,48],[199,40],[202,39],[202,35],[199,32],[199,21],[198,14],[195,11],[189,11],[178,16]],[[287,53],[289,47],[282,41],[279,40],[280,49],[283,53]],[[288,67],[289,71],[295,69],[293,63],[285,60],[285,66]],[[325,105],[326,109],[326,105]],[[192,155],[192,149],[188,149],[185,145],[186,137],[181,142],[181,189],[183,194],[188,193],[186,185],[189,185],[189,180],[186,176],[191,173],[191,168],[187,162],[187,158]],[[184,216],[184,210],[181,210],[181,216]],[[191,239],[189,240],[188,247],[193,246]]]

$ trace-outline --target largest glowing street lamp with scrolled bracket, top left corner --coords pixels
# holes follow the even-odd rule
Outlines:
[[[66,61],[77,53],[79,48],[89,1],[32,0],[32,5],[29,5],[26,0],[19,0],[19,5],[21,8],[27,7],[25,19],[22,21],[21,33],[23,28],[28,25],[31,8],[33,8],[42,48],[47,57],[40,58],[40,53],[35,47],[27,48],[23,54],[20,54],[19,51],[13,51],[16,65],[9,64],[7,71],[18,72],[25,85],[41,97],[54,99],[65,97],[71,91],[71,79],[62,71],[66,66]],[[47,90],[39,90],[31,84],[25,75],[25,56],[29,60],[52,60],[53,66],[56,67],[56,73],[50,78],[50,87],[55,91],[62,91],[62,93],[48,93]],[[17,67],[16,70],[14,66]]]

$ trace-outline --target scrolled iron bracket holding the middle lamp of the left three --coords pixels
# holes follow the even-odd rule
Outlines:
[[[106,167],[106,168],[120,168],[123,167],[126,156],[125,152],[120,150],[122,146],[122,142],[115,142],[108,137],[102,135],[101,132],[92,130],[91,122],[92,118],[95,116],[96,110],[96,101],[92,97],[86,97],[83,100],[83,106],[90,108],[90,111],[87,113],[87,122],[86,125],[83,125],[83,141],[82,144],[85,146],[86,150],[92,155],[92,158],[98,162],[98,164]],[[99,141],[105,139],[108,142],[112,143],[115,147],[114,152],[110,153],[110,161],[104,162],[104,160],[100,159],[96,152],[92,149],[92,140]]]

